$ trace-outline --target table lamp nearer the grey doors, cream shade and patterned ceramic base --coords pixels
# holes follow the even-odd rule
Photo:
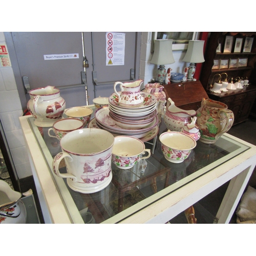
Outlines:
[[[164,83],[166,70],[164,65],[174,63],[173,39],[156,39],[155,50],[150,63],[159,65],[157,81]]]

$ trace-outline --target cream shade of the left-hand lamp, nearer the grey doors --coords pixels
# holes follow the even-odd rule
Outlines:
[[[156,39],[155,51],[150,63],[167,65],[174,63],[173,39]]]

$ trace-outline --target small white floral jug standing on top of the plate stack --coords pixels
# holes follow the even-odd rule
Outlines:
[[[137,80],[135,82],[115,82],[114,91],[117,94],[118,102],[120,106],[124,107],[138,107],[143,103],[144,98],[140,93],[140,86],[143,80]],[[120,86],[120,92],[117,92],[116,86]]]

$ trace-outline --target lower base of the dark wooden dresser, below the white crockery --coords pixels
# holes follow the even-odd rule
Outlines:
[[[228,90],[223,93],[207,92],[207,95],[210,99],[225,103],[234,114],[233,124],[238,124],[245,121],[250,114],[256,98],[256,86],[250,84],[243,89]]]

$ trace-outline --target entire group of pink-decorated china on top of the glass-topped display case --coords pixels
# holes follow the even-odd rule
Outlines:
[[[65,110],[65,100],[54,87],[30,92],[28,109],[35,124],[49,127],[48,135],[60,142],[61,152],[53,159],[53,173],[66,178],[71,189],[95,193],[110,184],[111,163],[127,169],[149,158],[151,151],[145,149],[144,142],[158,135],[161,115],[169,129],[159,136],[162,153],[173,163],[183,162],[197,140],[215,143],[232,126],[233,113],[225,104],[210,99],[203,99],[197,111],[186,111],[168,98],[164,113],[163,87],[159,83],[146,84],[140,91],[142,82],[115,82],[108,101],[105,97],[94,99],[96,111],[92,120],[90,108]],[[67,118],[62,118],[63,113]],[[59,170],[62,159],[67,173]]]

